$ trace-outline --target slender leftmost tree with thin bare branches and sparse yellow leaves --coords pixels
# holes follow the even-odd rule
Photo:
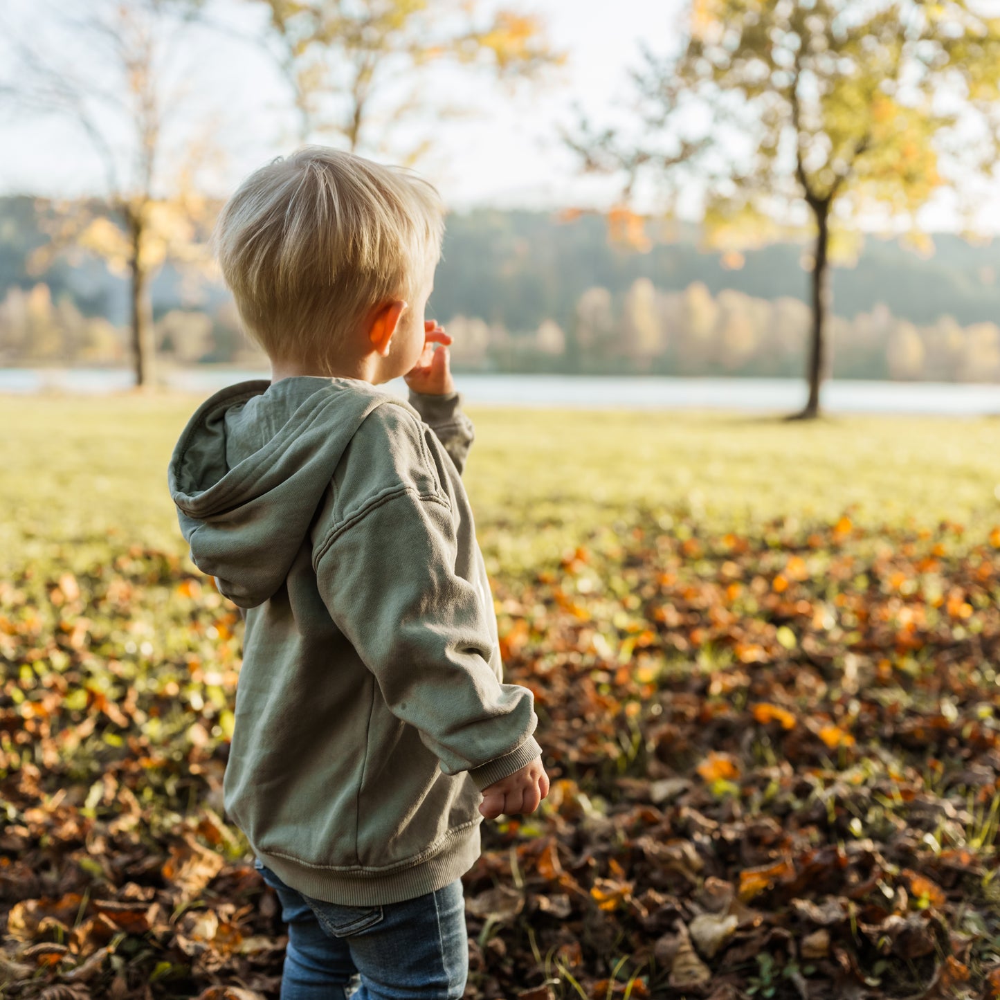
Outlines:
[[[127,276],[138,386],[155,381],[152,278],[168,259],[204,258],[205,202],[193,179],[215,147],[204,114],[196,131],[187,100],[198,12],[194,0],[92,0],[82,11],[63,0],[35,9],[30,25],[23,12],[19,23],[0,24],[8,103],[67,121],[102,177],[99,196],[56,206],[51,242],[34,264],[85,251]],[[73,142],[67,154],[79,149]]]

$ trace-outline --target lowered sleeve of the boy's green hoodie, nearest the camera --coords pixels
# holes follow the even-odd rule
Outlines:
[[[469,771],[483,789],[540,756],[533,696],[490,665],[488,595],[456,571],[454,498],[424,431],[409,414],[366,423],[347,463],[361,471],[342,474],[339,492],[358,495],[346,488],[354,475],[368,489],[318,538],[320,594],[393,715],[419,731],[445,774]]]

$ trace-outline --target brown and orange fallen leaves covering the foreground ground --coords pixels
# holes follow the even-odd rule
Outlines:
[[[1000,997],[1000,531],[663,515],[494,581],[553,780],[484,826],[467,997]],[[0,582],[3,996],[277,996],[240,630],[170,553]]]

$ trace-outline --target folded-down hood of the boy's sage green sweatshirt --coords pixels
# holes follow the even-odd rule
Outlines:
[[[351,438],[390,401],[402,403],[359,379],[296,376],[198,407],[168,482],[192,561],[226,597],[252,608],[284,583]]]

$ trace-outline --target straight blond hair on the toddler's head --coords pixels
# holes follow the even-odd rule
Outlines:
[[[370,309],[420,292],[443,230],[415,174],[306,146],[240,185],[214,244],[247,333],[272,360],[322,369]]]

